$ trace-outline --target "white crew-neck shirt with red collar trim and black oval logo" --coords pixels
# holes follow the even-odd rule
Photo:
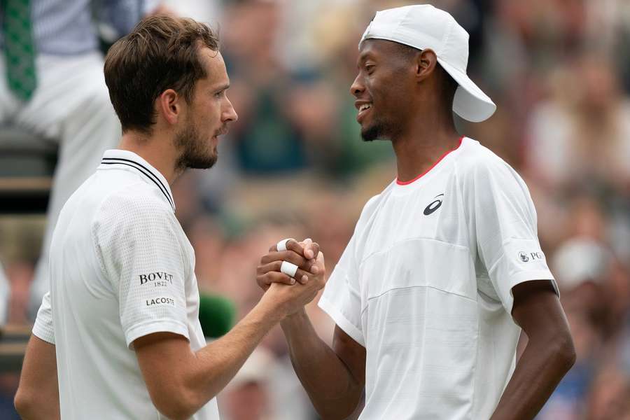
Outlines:
[[[319,302],[367,351],[360,419],[489,419],[535,279],[556,287],[527,187],[477,141],[373,197]]]

